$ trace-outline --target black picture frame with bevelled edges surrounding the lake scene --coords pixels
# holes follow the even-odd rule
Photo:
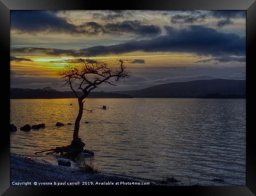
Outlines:
[[[252,89],[252,67],[254,62],[254,50],[256,48],[256,2],[254,0],[129,0],[128,2],[116,3],[113,1],[86,1],[86,0],[0,0],[0,47],[2,49],[2,65],[8,73],[10,65],[10,10],[65,10],[65,9],[147,9],[147,10],[246,10],[246,83],[247,98],[246,111],[249,112],[253,108],[250,101],[250,92]],[[2,83],[2,92],[9,92],[8,80]],[[6,102],[9,100],[6,96]],[[7,107],[6,107],[7,108]],[[2,114],[7,114],[2,113]],[[7,115],[6,115],[7,116]],[[256,194],[256,148],[254,129],[249,129],[252,125],[249,113],[247,114],[247,131],[246,131],[246,186],[228,186],[228,187],[158,187],[167,188],[172,191],[178,191],[179,194],[184,192],[196,195],[254,195]],[[6,125],[7,120],[4,122]],[[8,125],[9,126],[9,125]],[[1,159],[0,159],[0,194],[3,195],[51,195],[54,187],[10,187],[9,178],[9,131],[3,129],[1,138]],[[66,189],[66,187],[57,187],[58,189]],[[83,187],[75,187],[81,190]],[[88,189],[88,187],[86,187]],[[130,188],[130,187],[129,187]],[[148,189],[148,187],[145,187]],[[170,191],[171,191],[170,190]],[[173,193],[173,192],[170,192]]]

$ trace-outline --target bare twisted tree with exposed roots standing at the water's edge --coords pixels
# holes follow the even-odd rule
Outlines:
[[[84,99],[93,89],[96,89],[102,83],[108,83],[109,85],[116,86],[113,84],[113,80],[117,82],[121,79],[129,77],[129,73],[124,67],[125,60],[122,59],[119,60],[119,67],[117,69],[110,69],[106,62],[92,59],[80,58],[79,62],[82,63],[82,66],[74,67],[72,65],[67,65],[63,71],[57,73],[57,75],[62,79],[61,83],[63,83],[63,86],[69,85],[70,89],[74,92],[78,99],[79,111],[74,125],[73,140],[68,146],[46,150],[50,151],[46,154],[69,152],[69,154],[72,154],[73,156],[77,152],[80,152],[85,145],[78,137],[83,111],[93,111],[83,108],[85,102]],[[82,92],[82,95],[81,93],[78,93],[78,91]],[[36,152],[36,154],[46,151]]]

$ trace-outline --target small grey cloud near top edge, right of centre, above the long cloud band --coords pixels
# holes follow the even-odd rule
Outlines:
[[[205,14],[193,16],[193,15],[174,15],[171,17],[171,22],[173,24],[177,23],[195,23],[195,22],[202,22],[206,18]]]

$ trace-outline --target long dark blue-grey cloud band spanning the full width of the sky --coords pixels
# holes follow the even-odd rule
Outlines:
[[[188,29],[176,30],[166,27],[169,34],[149,40],[131,41],[109,46],[94,46],[85,49],[12,48],[13,52],[41,52],[50,55],[100,56],[134,51],[186,52],[206,56],[245,55],[245,37],[236,33],[223,33],[215,29],[191,25]]]

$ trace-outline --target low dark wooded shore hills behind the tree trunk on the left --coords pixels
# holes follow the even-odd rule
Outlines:
[[[82,92],[77,92],[78,96],[82,95]],[[88,98],[132,98],[132,96],[120,93],[105,93],[105,92],[91,92]],[[56,98],[76,98],[72,91],[56,91],[51,87],[45,87],[43,89],[10,89],[11,99],[56,99]]]

